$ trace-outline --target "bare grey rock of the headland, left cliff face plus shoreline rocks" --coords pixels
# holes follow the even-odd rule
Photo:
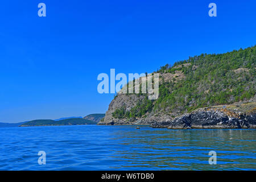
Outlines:
[[[114,118],[115,109],[133,108],[144,96],[136,94],[118,94],[109,105],[104,121],[98,125],[151,125],[152,127],[168,127],[168,129],[251,129],[256,128],[256,102],[235,103],[221,106],[200,108],[192,113],[147,113],[142,118]],[[176,117],[174,117],[174,115]]]

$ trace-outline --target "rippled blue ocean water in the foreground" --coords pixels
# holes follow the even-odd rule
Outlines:
[[[256,130],[140,127],[0,128],[0,170],[256,170]]]

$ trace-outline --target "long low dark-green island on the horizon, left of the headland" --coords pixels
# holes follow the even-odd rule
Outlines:
[[[82,118],[70,118],[60,121],[54,121],[52,119],[36,119],[23,123],[20,126],[65,126],[65,125],[96,125],[97,122],[90,121]]]

